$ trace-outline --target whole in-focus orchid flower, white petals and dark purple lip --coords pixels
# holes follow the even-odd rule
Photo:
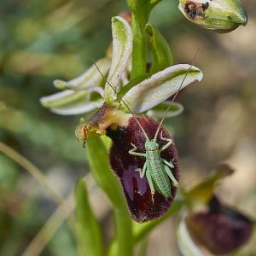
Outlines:
[[[155,33],[153,26],[147,25],[146,27],[150,35],[159,36]],[[160,54],[155,51],[154,65],[152,65],[154,72],[144,73],[129,81],[129,63],[131,63],[133,46],[131,26],[123,18],[113,17],[112,33],[111,61],[105,57],[97,61],[79,78],[69,82],[56,80],[55,86],[64,91],[53,96],[43,97],[41,102],[51,111],[61,114],[80,114],[99,108],[90,119],[78,125],[75,131],[77,140],[84,146],[90,137],[107,135],[113,140],[109,154],[110,165],[122,184],[131,217],[137,222],[145,222],[160,218],[171,207],[177,187],[172,187],[172,197],[168,200],[158,191],[154,195],[155,200],[152,200],[146,177],[139,177],[136,172],[138,167],[143,166],[143,159],[137,160],[128,153],[131,143],[143,150],[145,136],[141,127],[148,137],[154,137],[159,126],[154,119],[147,116],[136,117],[136,114],[164,115],[166,104],[169,104],[165,101],[195,80],[201,81],[203,75],[199,68],[189,64],[165,67],[160,61]],[[165,44],[160,45],[157,39],[152,38],[152,50],[163,49],[163,59],[166,59],[166,41]],[[157,47],[154,47],[155,45]],[[172,59],[170,54],[167,57]],[[160,63],[160,65],[155,63]],[[159,67],[164,67],[164,69],[157,72]],[[105,78],[106,76],[107,78]],[[103,82],[105,83],[104,87],[102,87]],[[90,97],[91,92],[96,92],[97,96]],[[176,108],[172,108],[171,115],[179,113],[182,109],[177,103],[172,106]],[[138,123],[140,123],[139,126]],[[162,125],[160,125],[160,132],[164,136],[170,137]],[[157,135],[159,140],[160,134]],[[88,140],[87,153],[91,154],[91,158],[93,158],[92,148],[95,150],[98,148],[98,144],[92,146],[91,142]],[[162,143],[163,141],[160,143],[161,147]],[[178,180],[175,143],[172,143],[163,155],[166,160],[172,161],[174,165],[172,172]],[[89,159],[89,161],[91,160]]]

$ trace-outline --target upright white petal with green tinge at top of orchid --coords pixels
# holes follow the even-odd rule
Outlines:
[[[123,18],[116,16],[112,18],[113,53],[111,67],[108,73],[108,83],[114,90],[118,90],[119,80],[127,66],[132,50],[131,26]],[[105,84],[105,102],[113,102],[116,99],[116,91]]]

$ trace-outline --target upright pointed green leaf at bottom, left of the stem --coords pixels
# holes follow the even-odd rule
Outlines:
[[[75,196],[80,253],[83,256],[102,256],[102,231],[90,207],[83,178],[79,179]]]

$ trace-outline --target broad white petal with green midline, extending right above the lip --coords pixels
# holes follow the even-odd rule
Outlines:
[[[132,112],[142,113],[175,94],[182,83],[181,89],[195,80],[201,81],[202,78],[201,70],[189,64],[167,67],[132,87],[123,97],[123,101]],[[124,102],[120,102],[121,108],[125,108]]]

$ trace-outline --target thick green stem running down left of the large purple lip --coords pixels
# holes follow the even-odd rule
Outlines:
[[[118,247],[109,255],[133,255],[133,237],[131,231],[131,217],[127,211],[125,197],[120,183],[113,175],[108,164],[108,150],[103,143],[102,137],[90,137],[87,141],[87,157],[90,171],[96,179],[96,183],[108,195],[113,206],[113,218]]]

